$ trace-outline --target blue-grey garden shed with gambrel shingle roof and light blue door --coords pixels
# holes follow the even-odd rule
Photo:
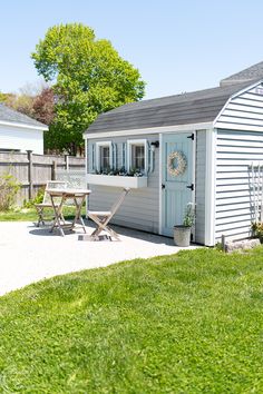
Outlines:
[[[193,239],[213,246],[250,235],[251,164],[263,160],[263,62],[189,93],[127,104],[85,132],[89,208],[105,210],[133,177],[96,175],[107,167],[144,173],[115,223],[173,235],[196,204]],[[226,239],[227,239],[226,238]]]

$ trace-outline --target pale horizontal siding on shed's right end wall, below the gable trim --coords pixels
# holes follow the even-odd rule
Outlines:
[[[216,144],[216,242],[250,236],[254,219],[251,164],[263,160],[263,132],[218,130]]]

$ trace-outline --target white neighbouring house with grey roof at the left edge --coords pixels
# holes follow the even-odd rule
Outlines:
[[[43,154],[43,131],[48,126],[0,104],[0,152],[32,150]]]

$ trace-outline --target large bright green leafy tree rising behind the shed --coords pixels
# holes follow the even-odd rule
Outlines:
[[[57,97],[49,148],[76,154],[82,132],[105,111],[143,98],[145,82],[108,40],[80,23],[50,28],[32,53],[38,73]]]

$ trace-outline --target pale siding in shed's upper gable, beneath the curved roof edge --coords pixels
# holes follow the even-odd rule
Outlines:
[[[261,83],[233,97],[215,122],[215,127],[263,131],[263,87]]]

